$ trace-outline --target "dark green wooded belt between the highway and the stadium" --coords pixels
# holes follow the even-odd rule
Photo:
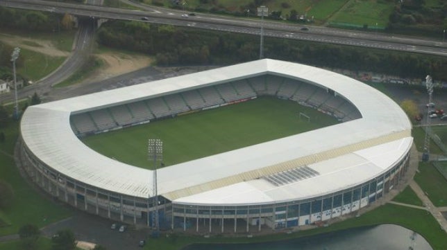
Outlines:
[[[108,21],[99,29],[98,42],[111,48],[156,55],[159,65],[233,64],[259,58],[258,36],[140,21]],[[443,70],[447,58],[434,55],[271,37],[265,37],[264,55],[320,67],[416,78],[430,74],[435,79],[447,80],[447,72]]]

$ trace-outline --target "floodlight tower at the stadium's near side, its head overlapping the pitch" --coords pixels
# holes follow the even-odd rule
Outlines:
[[[163,142],[160,139],[149,139],[147,147],[148,159],[153,161],[152,180],[152,228],[158,231],[158,193],[157,193],[157,163],[163,161]],[[148,213],[149,215],[149,213]]]

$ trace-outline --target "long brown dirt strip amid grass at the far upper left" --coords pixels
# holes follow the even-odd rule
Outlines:
[[[10,46],[19,46],[29,51],[35,51],[50,56],[67,57],[67,51],[60,51],[50,40],[31,39],[0,33],[0,40]]]

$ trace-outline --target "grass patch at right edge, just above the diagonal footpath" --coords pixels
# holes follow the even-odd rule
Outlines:
[[[420,163],[414,180],[435,206],[447,206],[447,181],[431,163]]]

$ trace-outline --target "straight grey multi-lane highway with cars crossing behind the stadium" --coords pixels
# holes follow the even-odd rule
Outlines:
[[[284,39],[300,39],[310,42],[330,44],[344,44],[349,46],[363,46],[381,48],[394,51],[407,51],[432,55],[447,55],[447,43],[441,40],[424,39],[421,37],[404,37],[383,33],[366,33],[354,30],[341,30],[317,26],[285,24],[280,21],[261,22],[258,19],[235,19],[196,13],[195,16],[183,17],[187,13],[181,10],[171,10],[152,6],[143,6],[128,0],[125,3],[138,6],[142,10],[128,10],[101,6],[80,5],[41,0],[0,0],[0,6],[43,10],[73,15],[95,17],[101,19],[125,19],[147,21],[154,24],[170,24],[174,26],[189,26],[194,28],[219,30],[230,33],[246,33],[260,35],[260,26],[264,26],[267,37],[281,37]],[[142,20],[142,18],[145,20]],[[441,36],[441,34],[440,34]]]

